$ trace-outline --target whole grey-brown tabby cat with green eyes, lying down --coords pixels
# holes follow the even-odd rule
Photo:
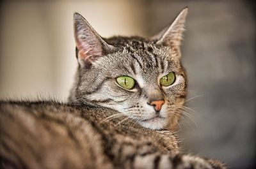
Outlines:
[[[226,168],[181,154],[172,131],[186,97],[187,13],[152,38],[109,39],[75,13],[69,102],[0,101],[0,168]]]

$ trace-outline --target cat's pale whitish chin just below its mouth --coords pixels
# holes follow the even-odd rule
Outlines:
[[[149,129],[163,129],[166,124],[166,118],[155,117],[153,119],[148,119],[145,121],[139,121],[139,124],[144,128]]]

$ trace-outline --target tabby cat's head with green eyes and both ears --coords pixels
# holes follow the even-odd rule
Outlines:
[[[75,13],[79,66],[69,101],[113,108],[145,128],[173,128],[186,96],[180,41],[187,13],[152,38],[109,39]]]

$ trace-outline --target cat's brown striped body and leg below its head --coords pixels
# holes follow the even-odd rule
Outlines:
[[[93,105],[0,103],[0,168],[225,168],[179,154],[171,131],[145,129]]]

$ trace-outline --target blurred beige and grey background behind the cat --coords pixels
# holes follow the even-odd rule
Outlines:
[[[103,37],[151,36],[185,6],[182,151],[255,168],[255,1],[1,1],[0,99],[67,99],[77,66],[74,11]]]

